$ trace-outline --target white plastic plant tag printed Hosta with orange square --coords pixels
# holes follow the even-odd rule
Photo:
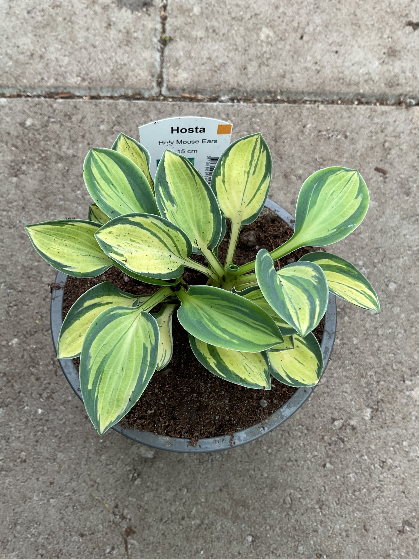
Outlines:
[[[201,116],[177,116],[139,127],[140,143],[151,156],[154,178],[165,149],[184,155],[209,183],[214,167],[231,140],[232,124]]]

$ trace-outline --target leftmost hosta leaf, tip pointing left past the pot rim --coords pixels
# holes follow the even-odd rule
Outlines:
[[[96,277],[112,266],[94,233],[97,223],[63,219],[27,225],[26,233],[38,254],[55,269],[79,278]]]

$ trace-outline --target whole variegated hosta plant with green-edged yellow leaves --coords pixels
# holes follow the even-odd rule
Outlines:
[[[123,134],[112,149],[91,149],[83,168],[94,201],[89,220],[26,227],[36,251],[64,274],[93,278],[116,266],[155,286],[138,296],[98,283],[61,326],[58,357],[80,357],[80,390],[98,433],[121,421],[155,371],[168,366],[174,314],[198,361],[224,381],[264,391],[271,376],[293,387],[315,386],[323,356],[312,331],[329,293],[379,312],[377,295],[352,264],[322,250],[279,269],[276,262],[301,247],[335,243],[358,227],[369,204],[359,172],[330,167],[313,173],[299,193],[291,238],[237,266],[240,232],[258,218],[270,188],[272,159],[262,136],[232,143],[211,186],[174,151],[164,152],[154,182],[149,163],[144,146]],[[227,220],[222,262],[218,247]],[[185,269],[202,273],[202,285],[189,285]]]

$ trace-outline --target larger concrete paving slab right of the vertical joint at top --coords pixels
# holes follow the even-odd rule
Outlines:
[[[170,0],[166,92],[417,99],[411,20],[415,0]]]

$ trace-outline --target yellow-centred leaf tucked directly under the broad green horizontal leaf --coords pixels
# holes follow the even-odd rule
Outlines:
[[[269,361],[266,352],[247,353],[201,342],[189,334],[192,351],[204,367],[223,378],[247,388],[270,390]]]

